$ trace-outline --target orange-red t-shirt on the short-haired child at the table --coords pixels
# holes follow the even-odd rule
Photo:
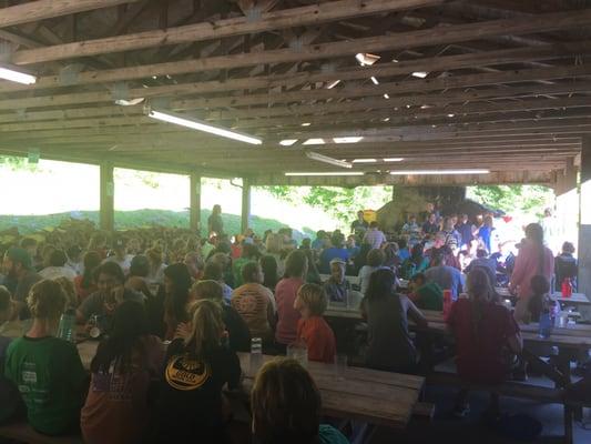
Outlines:
[[[297,341],[303,341],[308,349],[308,360],[335,362],[336,341],[330,326],[322,316],[300,319],[297,323]]]

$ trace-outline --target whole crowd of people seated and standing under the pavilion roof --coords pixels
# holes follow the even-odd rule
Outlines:
[[[37,431],[80,427],[89,443],[227,442],[223,389],[240,386],[236,353],[253,339],[266,354],[299,344],[310,361],[333,363],[339,344],[323,315],[353,305],[367,322],[365,365],[416,373],[408,323],[426,326],[421,310],[441,311],[445,292],[460,377],[498,383],[507,347],[521,352],[519,323],[548,310],[553,280],[575,285],[577,262],[568,243],[554,259],[537,223],[516,245],[493,225],[491,214],[441,216],[429,204],[397,233],[359,212],[350,233],[318,231],[297,245],[287,228],[230,236],[216,205],[205,239],[162,228],[108,235],[84,222],[41,242],[16,236],[2,246],[0,323],[29,329],[0,336],[0,383],[14,395],[0,421],[26,411]],[[513,312],[497,285],[517,295]],[[64,313],[101,339],[90,379],[75,345],[57,337]],[[293,360],[266,364],[251,402],[257,442],[347,442],[320,424],[318,390]]]

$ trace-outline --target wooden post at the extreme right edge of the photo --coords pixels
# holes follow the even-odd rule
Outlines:
[[[591,138],[581,144],[581,194],[579,201],[579,292],[591,295]]]

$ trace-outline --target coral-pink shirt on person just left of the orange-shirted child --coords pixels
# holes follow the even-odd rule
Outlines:
[[[275,339],[279,344],[289,345],[296,340],[300,314],[294,309],[294,301],[304,283],[299,278],[286,278],[282,279],[275,287],[278,317]]]

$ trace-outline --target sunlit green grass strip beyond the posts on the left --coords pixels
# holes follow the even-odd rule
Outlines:
[[[211,210],[201,211],[201,226],[207,226],[207,218]],[[17,226],[21,234],[31,234],[45,228],[58,226],[64,219],[89,219],[99,224],[98,211],[75,211],[69,213],[44,214],[44,215],[0,215],[0,231]],[[236,214],[224,214],[224,228],[227,233],[235,234],[241,232],[241,216]],[[115,211],[115,229],[125,230],[132,228],[147,228],[152,225],[188,228],[188,211],[167,211],[167,210],[136,210],[136,211]],[[262,219],[256,215],[251,216],[251,228],[258,235],[263,235],[265,230],[277,231],[287,226],[285,223],[275,219]],[[205,234],[203,232],[202,234]],[[314,230],[304,229],[304,236],[314,238]],[[294,235],[294,238],[300,238]]]

